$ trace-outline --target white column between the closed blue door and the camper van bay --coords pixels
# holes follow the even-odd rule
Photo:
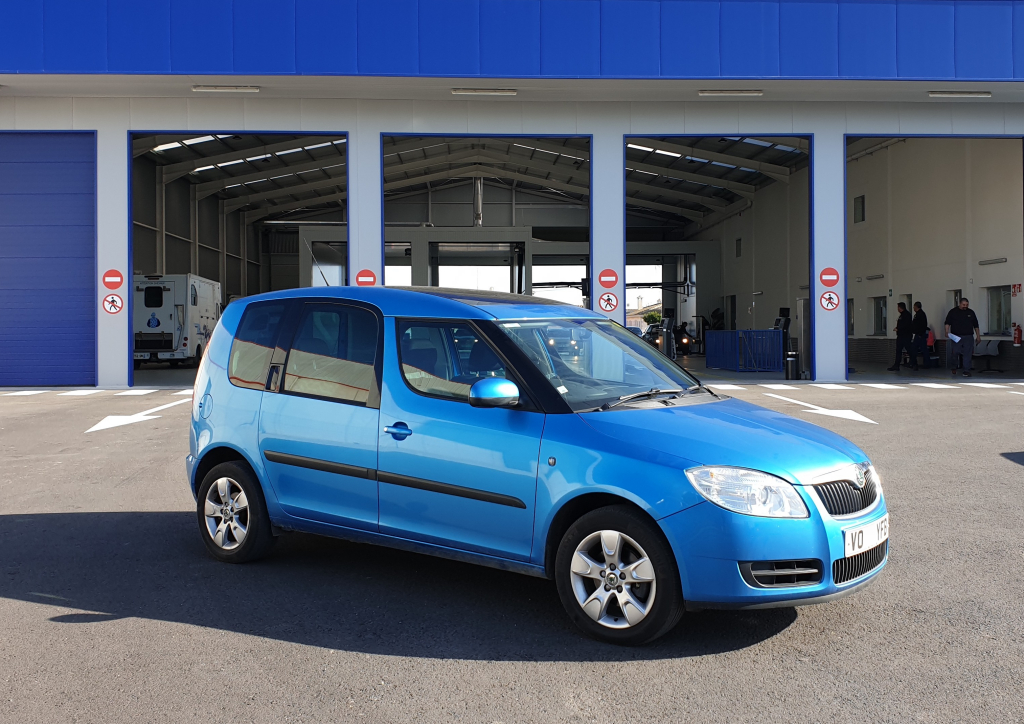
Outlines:
[[[75,129],[96,131],[96,384],[100,387],[127,387],[131,369],[128,122],[126,98],[75,98]],[[100,304],[112,291],[102,283],[108,269],[117,269],[125,280],[120,289],[113,290],[125,300],[117,314],[106,313]]]

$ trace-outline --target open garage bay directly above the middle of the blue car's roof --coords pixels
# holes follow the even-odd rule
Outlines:
[[[387,286],[588,303],[589,138],[392,135],[383,153]]]

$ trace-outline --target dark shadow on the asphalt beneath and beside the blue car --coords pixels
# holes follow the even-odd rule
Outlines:
[[[334,649],[430,658],[631,661],[732,651],[775,636],[793,608],[687,613],[639,649],[582,638],[549,581],[292,534],[248,565],[206,553],[190,513],[0,516],[0,596],[204,626]]]

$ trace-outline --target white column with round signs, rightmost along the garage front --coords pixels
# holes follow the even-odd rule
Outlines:
[[[824,107],[808,118],[813,127],[811,144],[811,323],[814,338],[814,379],[847,379],[846,322],[846,117],[842,109]],[[839,271],[834,287],[821,284],[822,269]],[[826,310],[821,296],[839,298]]]

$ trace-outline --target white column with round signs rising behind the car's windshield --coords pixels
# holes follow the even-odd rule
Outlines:
[[[624,103],[580,103],[580,130],[592,133],[590,150],[590,307],[626,323],[626,183],[625,134],[629,132],[629,107]],[[603,287],[601,271],[611,269],[615,284]],[[601,296],[610,294],[615,306],[602,308]]]

